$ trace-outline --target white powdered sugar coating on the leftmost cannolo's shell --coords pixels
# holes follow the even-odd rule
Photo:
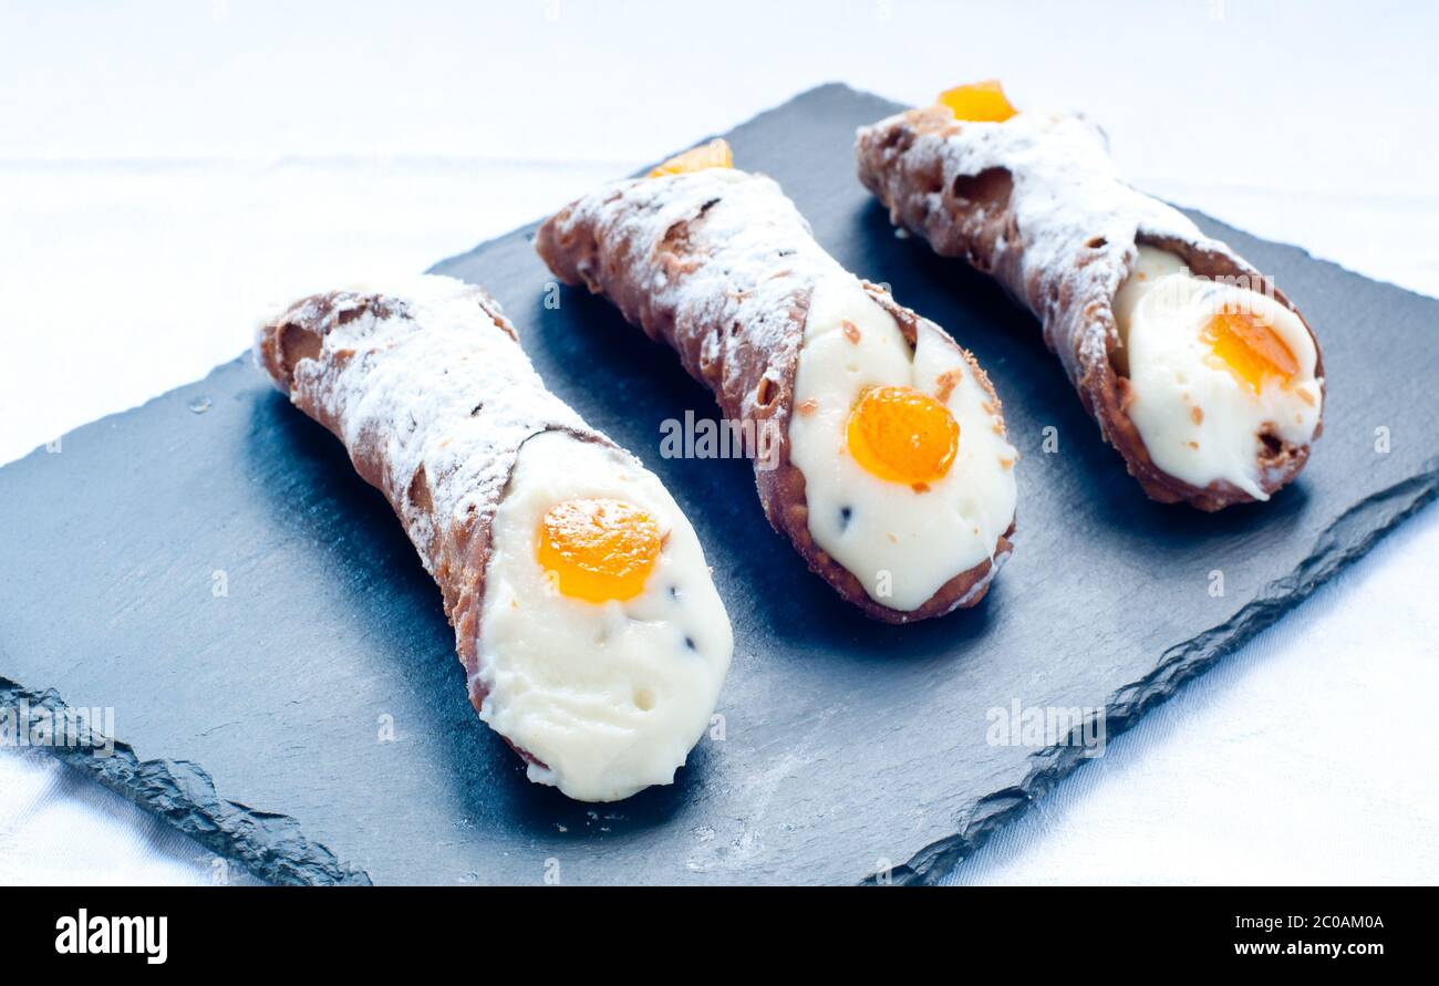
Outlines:
[[[563,429],[609,442],[545,390],[496,317],[479,288],[420,276],[307,298],[269,322],[328,322],[321,358],[295,366],[291,400],[338,423],[351,458],[378,442],[383,475],[366,478],[397,505],[430,574],[432,524],[492,515],[531,435]],[[430,510],[412,489],[422,469]]]

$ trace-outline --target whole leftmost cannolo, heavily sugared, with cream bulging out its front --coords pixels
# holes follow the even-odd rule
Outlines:
[[[666,784],[708,728],[730,620],[659,479],[545,390],[479,288],[304,298],[256,360],[377,487],[439,583],[469,700],[531,780]]]

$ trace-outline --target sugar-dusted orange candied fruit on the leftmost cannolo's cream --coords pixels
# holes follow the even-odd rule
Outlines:
[[[535,557],[560,594],[603,603],[645,592],[663,537],[655,518],[623,499],[566,499],[540,521]]]

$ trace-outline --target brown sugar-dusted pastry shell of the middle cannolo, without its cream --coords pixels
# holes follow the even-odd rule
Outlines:
[[[669,344],[685,368],[709,386],[728,417],[776,429],[778,468],[755,469],[766,515],[790,537],[810,569],[846,599],[879,619],[908,622],[938,615],[980,579],[977,567],[948,571],[948,582],[941,579],[934,596],[899,609],[891,597],[871,597],[863,577],[872,566],[852,561],[858,567],[846,567],[810,523],[817,515],[810,502],[819,488],[812,482],[814,469],[833,465],[835,436],[817,438],[826,453],[803,465],[793,415],[802,363],[809,358],[802,357],[802,347],[810,344],[812,333],[825,334],[842,324],[832,309],[820,314],[822,299],[849,299],[848,305],[866,312],[863,318],[875,317],[886,328],[898,328],[911,347],[924,333],[954,350],[948,354],[951,363],[971,370],[974,383],[993,402],[993,410],[984,412],[986,433],[993,430],[999,404],[973,358],[948,335],[826,253],[773,180],[708,168],[617,181],[547,220],[535,246],[567,284],[583,282],[591,292],[604,294],[632,324]],[[843,368],[846,376],[858,371],[858,366]],[[911,376],[905,373],[904,379]],[[829,511],[822,512],[827,523]],[[1006,523],[1012,517],[1010,511]],[[986,567],[994,550],[996,544],[983,544]],[[950,561],[954,558],[945,556],[935,567]],[[980,594],[967,596],[967,602]]]

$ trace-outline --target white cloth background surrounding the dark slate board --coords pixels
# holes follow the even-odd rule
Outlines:
[[[276,302],[420,271],[836,79],[928,102],[999,76],[1097,118],[1143,189],[1439,295],[1420,7],[0,3],[0,462],[203,376]],[[1429,510],[955,879],[1439,882],[1436,556]],[[0,882],[210,867],[0,753]]]

